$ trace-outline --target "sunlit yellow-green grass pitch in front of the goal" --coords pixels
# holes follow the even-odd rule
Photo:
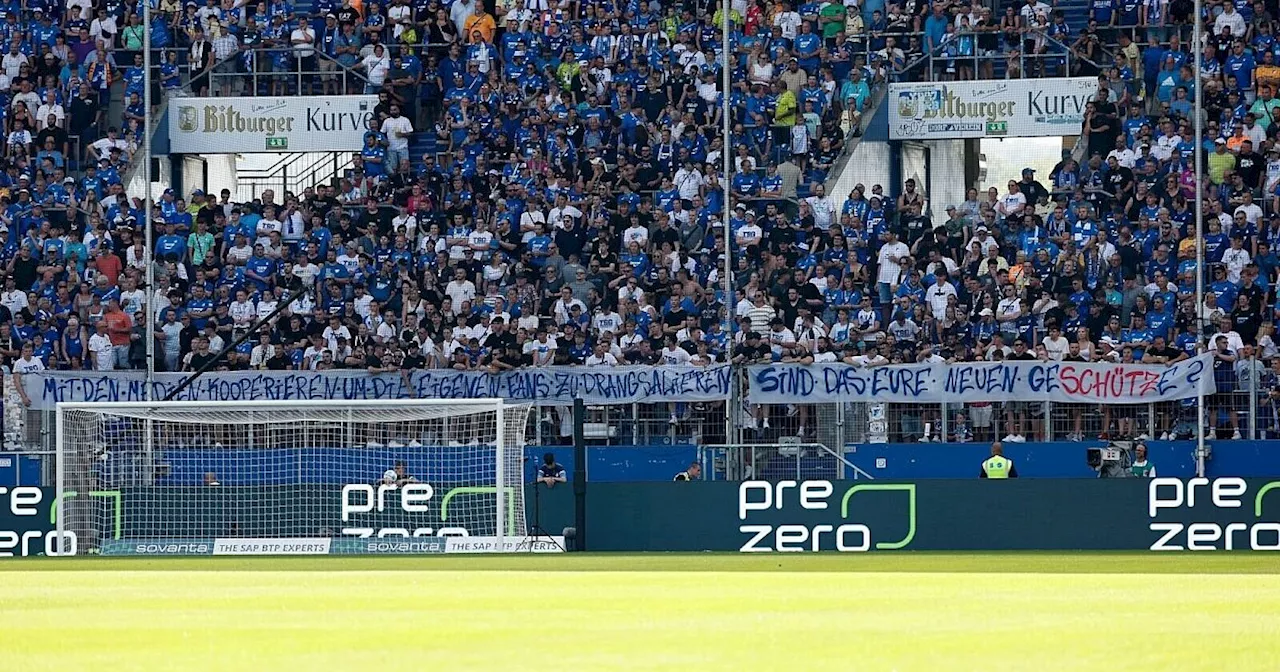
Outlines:
[[[1280,669],[1280,556],[6,559],[0,669]]]

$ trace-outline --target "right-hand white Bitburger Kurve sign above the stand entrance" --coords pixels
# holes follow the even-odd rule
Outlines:
[[[1096,77],[890,84],[888,138],[1078,136],[1097,92]]]

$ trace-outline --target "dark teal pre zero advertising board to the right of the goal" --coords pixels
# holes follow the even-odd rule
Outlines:
[[[1280,550],[1266,479],[596,484],[590,502],[590,550]]]

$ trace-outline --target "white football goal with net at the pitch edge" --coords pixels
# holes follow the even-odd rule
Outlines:
[[[59,403],[58,538],[81,554],[509,550],[527,415],[500,399]]]

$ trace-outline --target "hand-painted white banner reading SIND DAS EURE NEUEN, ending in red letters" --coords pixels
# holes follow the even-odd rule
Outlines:
[[[1080,362],[963,362],[749,367],[751,403],[1062,402],[1148,403],[1213,394],[1208,355],[1172,366]]]

